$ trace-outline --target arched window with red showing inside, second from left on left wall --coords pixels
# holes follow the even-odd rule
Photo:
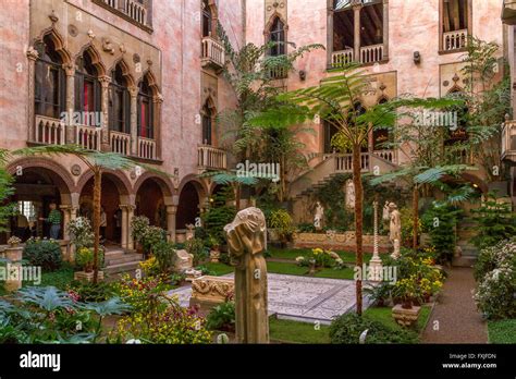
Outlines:
[[[100,126],[96,124],[96,117],[89,117],[94,115],[91,112],[101,112],[99,73],[88,52],[78,57],[75,65],[75,111],[83,112],[83,120],[88,126]]]

